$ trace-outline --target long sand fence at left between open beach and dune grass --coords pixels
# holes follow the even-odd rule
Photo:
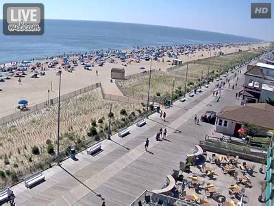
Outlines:
[[[82,89],[78,89],[76,91],[73,91],[71,93],[66,93],[64,95],[61,95],[60,100],[61,102],[64,100],[68,100],[69,98],[73,98],[77,95],[80,95],[82,93],[86,93],[88,91],[91,91],[93,89],[96,89],[97,87],[100,87],[101,83],[96,83],[96,84],[92,84],[88,87],[84,87]],[[36,104],[34,106],[29,106],[29,108],[27,108],[26,111],[17,111],[16,113],[12,113],[10,115],[7,115],[5,117],[1,117],[0,118],[0,125],[6,124],[8,122],[12,122],[16,119],[19,119],[21,117],[24,117],[26,115],[29,115],[31,113],[34,113],[36,111],[41,110],[42,108],[46,108],[47,106],[50,106],[52,104],[56,104],[58,102],[58,97],[57,98],[53,98],[49,101],[45,101],[45,102],[41,102],[40,104]]]

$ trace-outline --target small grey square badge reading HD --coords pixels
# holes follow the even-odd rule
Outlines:
[[[271,19],[271,3],[251,3],[251,19]]]

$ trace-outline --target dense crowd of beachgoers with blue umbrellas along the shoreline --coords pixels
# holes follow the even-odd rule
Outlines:
[[[26,71],[32,73],[32,78],[37,78],[38,75],[45,75],[45,70],[48,68],[65,69],[72,71],[76,66],[82,65],[84,69],[95,67],[95,64],[103,67],[105,62],[117,63],[122,62],[122,65],[127,65],[132,62],[141,62],[142,60],[150,60],[164,62],[165,57],[178,58],[180,55],[195,54],[197,51],[214,51],[221,47],[238,47],[247,44],[197,44],[197,45],[173,45],[161,47],[134,47],[122,51],[120,49],[108,49],[106,51],[100,50],[96,52],[82,52],[70,54],[64,53],[58,56],[45,56],[44,60],[22,60],[16,62],[9,62],[0,65],[0,82],[5,82],[12,77],[18,77],[18,82],[21,82],[21,77],[25,76]],[[216,55],[216,54],[215,54]]]

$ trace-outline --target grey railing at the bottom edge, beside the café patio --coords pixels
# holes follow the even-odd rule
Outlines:
[[[176,206],[187,206],[187,205],[197,205],[196,203],[190,203],[188,201],[183,201],[177,198],[173,198],[171,196],[166,196],[164,194],[157,194],[148,190],[145,190],[145,192],[142,192],[138,198],[136,198],[135,201],[133,201],[129,206],[138,206],[138,202],[141,201],[142,203],[145,202],[145,196],[150,196],[151,204],[150,205],[156,205],[158,201],[161,199],[164,201],[164,206],[166,206],[168,203],[176,205]]]

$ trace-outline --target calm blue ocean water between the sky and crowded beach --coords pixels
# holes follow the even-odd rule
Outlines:
[[[46,20],[42,36],[5,36],[0,20],[0,63],[99,49],[260,40],[178,27],[104,21]]]

